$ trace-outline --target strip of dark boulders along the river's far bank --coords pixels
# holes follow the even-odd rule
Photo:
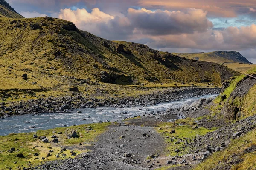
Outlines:
[[[95,108],[95,107],[129,107],[129,106],[145,106],[154,105],[161,102],[170,102],[195,96],[204,96],[209,94],[218,94],[220,88],[170,88],[165,91],[155,92],[148,95],[140,95],[138,97],[109,97],[105,99],[86,98],[79,93],[73,96],[61,98],[38,98],[20,102],[0,103],[0,117],[6,118],[10,115],[20,114],[38,114],[52,112],[69,112],[70,110],[79,108]]]

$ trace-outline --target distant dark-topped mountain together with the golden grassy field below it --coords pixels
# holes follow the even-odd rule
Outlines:
[[[209,53],[172,53],[180,57],[186,57],[188,59],[195,59],[200,61],[215,62],[223,64],[228,68],[245,73],[256,65],[250,64],[250,62],[241,56],[237,52],[225,52],[225,51],[213,51]],[[240,57],[241,59],[240,59]],[[239,57],[239,58],[238,58]],[[228,63],[233,62],[233,63]]]

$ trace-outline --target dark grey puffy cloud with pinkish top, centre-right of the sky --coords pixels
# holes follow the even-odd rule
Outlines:
[[[181,34],[204,32],[213,27],[207,17],[207,12],[201,9],[181,11],[151,11],[145,8],[140,10],[128,9],[127,17],[134,28],[142,34]]]

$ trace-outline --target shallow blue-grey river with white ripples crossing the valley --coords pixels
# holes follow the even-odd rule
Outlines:
[[[118,121],[125,117],[140,116],[142,113],[151,111],[164,111],[167,108],[180,108],[185,103],[198,100],[200,98],[214,98],[218,94],[193,97],[169,103],[159,103],[149,106],[134,106],[129,108],[84,108],[71,113],[42,113],[38,115],[25,114],[20,116],[11,116],[6,119],[0,119],[0,136],[10,133],[35,132],[37,130],[52,129],[55,127],[65,127],[72,125],[90,124],[99,121]],[[122,114],[127,112],[128,114]],[[86,120],[84,120],[86,119]],[[172,121],[172,120],[170,120]],[[35,128],[31,128],[35,126]],[[30,128],[29,128],[30,127]]]

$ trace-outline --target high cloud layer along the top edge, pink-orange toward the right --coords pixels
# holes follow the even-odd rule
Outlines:
[[[183,11],[187,8],[208,11],[207,17],[237,17],[256,9],[255,0],[7,0],[16,9],[19,6],[38,8],[42,11],[58,12],[61,8],[99,8],[101,11],[114,14],[122,13],[131,7]],[[26,8],[26,10],[28,10]],[[21,10],[22,11],[22,10]]]

